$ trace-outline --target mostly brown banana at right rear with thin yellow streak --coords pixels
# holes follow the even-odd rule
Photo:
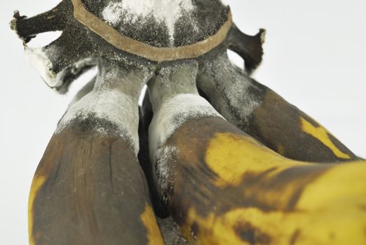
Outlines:
[[[197,86],[225,119],[286,158],[360,160],[314,119],[232,64],[223,48],[200,59]]]

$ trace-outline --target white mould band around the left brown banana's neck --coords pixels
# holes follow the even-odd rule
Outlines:
[[[75,118],[81,120],[90,118],[90,116],[101,118],[117,125],[120,136],[131,141],[137,154],[139,152],[139,136],[137,134],[139,113],[136,103],[130,95],[118,90],[93,90],[78,102],[71,104],[60,120],[55,133],[62,132]],[[104,127],[100,127],[97,131],[100,134],[106,134]]]

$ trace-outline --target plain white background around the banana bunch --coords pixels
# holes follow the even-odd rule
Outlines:
[[[264,62],[255,78],[366,157],[366,1],[227,3],[242,31],[255,34],[260,27],[267,29]],[[56,4],[55,0],[0,3],[0,244],[27,244],[31,179],[71,99],[43,83],[24,59],[22,43],[8,22],[15,9],[32,16]]]

